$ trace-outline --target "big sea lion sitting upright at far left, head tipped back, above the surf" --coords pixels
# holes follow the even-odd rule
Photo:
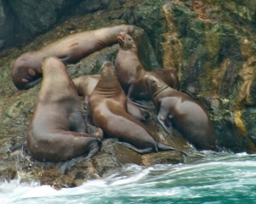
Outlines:
[[[31,156],[40,161],[67,161],[77,156],[78,161],[89,160],[100,150],[102,130],[94,127],[86,133],[79,95],[61,60],[45,58],[42,70],[42,87],[26,132]]]

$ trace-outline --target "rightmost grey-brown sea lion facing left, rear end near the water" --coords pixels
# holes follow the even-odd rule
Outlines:
[[[196,149],[215,150],[212,122],[204,107],[156,77],[146,75],[144,78],[158,111],[157,119],[166,131],[172,134],[174,127]]]

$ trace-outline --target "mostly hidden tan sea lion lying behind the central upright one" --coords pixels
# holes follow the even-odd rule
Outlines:
[[[83,77],[74,78],[73,82],[77,88],[78,94],[84,97],[84,108],[87,109],[88,99],[90,94],[96,87],[101,75],[86,75]],[[137,105],[127,101],[127,112],[137,118],[139,121],[146,121],[150,116],[148,111],[143,111]]]

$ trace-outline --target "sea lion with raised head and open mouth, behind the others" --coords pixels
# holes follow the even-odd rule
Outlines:
[[[128,100],[136,105],[149,108],[147,105],[142,105],[141,102],[134,101],[150,99],[150,93],[144,81],[146,73],[160,78],[172,88],[179,89],[179,80],[173,71],[164,68],[155,71],[144,70],[137,57],[136,43],[126,32],[120,32],[118,42],[119,52],[114,61],[115,74],[125,94],[127,94]]]

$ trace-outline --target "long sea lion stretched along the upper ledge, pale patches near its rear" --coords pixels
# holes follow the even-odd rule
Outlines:
[[[78,32],[63,37],[37,51],[21,54],[12,66],[12,80],[18,89],[32,88],[42,77],[41,62],[44,57],[55,56],[64,64],[79,61],[83,57],[117,42],[120,31],[132,33],[134,26],[113,26],[94,31]]]

